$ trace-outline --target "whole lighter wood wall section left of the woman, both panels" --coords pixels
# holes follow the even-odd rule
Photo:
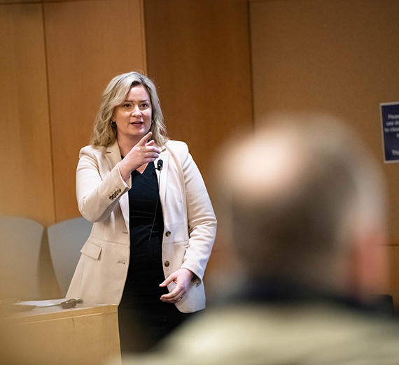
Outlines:
[[[141,0],[0,3],[0,215],[78,217],[75,171],[106,83],[146,71]],[[21,1],[20,1],[21,2]]]

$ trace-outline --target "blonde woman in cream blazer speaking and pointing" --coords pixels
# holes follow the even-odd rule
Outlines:
[[[94,224],[67,296],[118,304],[123,351],[147,350],[205,308],[216,217],[186,143],[166,136],[146,76],[125,73],[106,87],[76,194]]]

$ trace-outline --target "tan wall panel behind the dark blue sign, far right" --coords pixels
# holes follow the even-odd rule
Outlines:
[[[399,2],[250,4],[255,124],[276,111],[330,113],[353,127],[386,173],[399,235],[399,165],[383,163],[379,103],[399,101]]]

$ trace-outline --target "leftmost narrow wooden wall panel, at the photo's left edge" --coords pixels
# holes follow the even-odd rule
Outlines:
[[[41,4],[0,5],[0,215],[55,222]]]

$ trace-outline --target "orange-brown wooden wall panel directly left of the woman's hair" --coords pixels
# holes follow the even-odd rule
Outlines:
[[[75,171],[111,78],[146,71],[141,0],[45,3],[55,218],[80,215]]]

